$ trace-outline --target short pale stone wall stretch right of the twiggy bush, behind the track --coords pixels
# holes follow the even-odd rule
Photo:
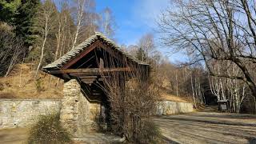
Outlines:
[[[193,111],[193,104],[189,102],[162,101],[158,102],[156,114],[182,114],[190,113]]]

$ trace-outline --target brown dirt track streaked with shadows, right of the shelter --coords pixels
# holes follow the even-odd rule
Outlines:
[[[256,144],[255,115],[197,112],[160,116],[154,121],[167,143]]]

